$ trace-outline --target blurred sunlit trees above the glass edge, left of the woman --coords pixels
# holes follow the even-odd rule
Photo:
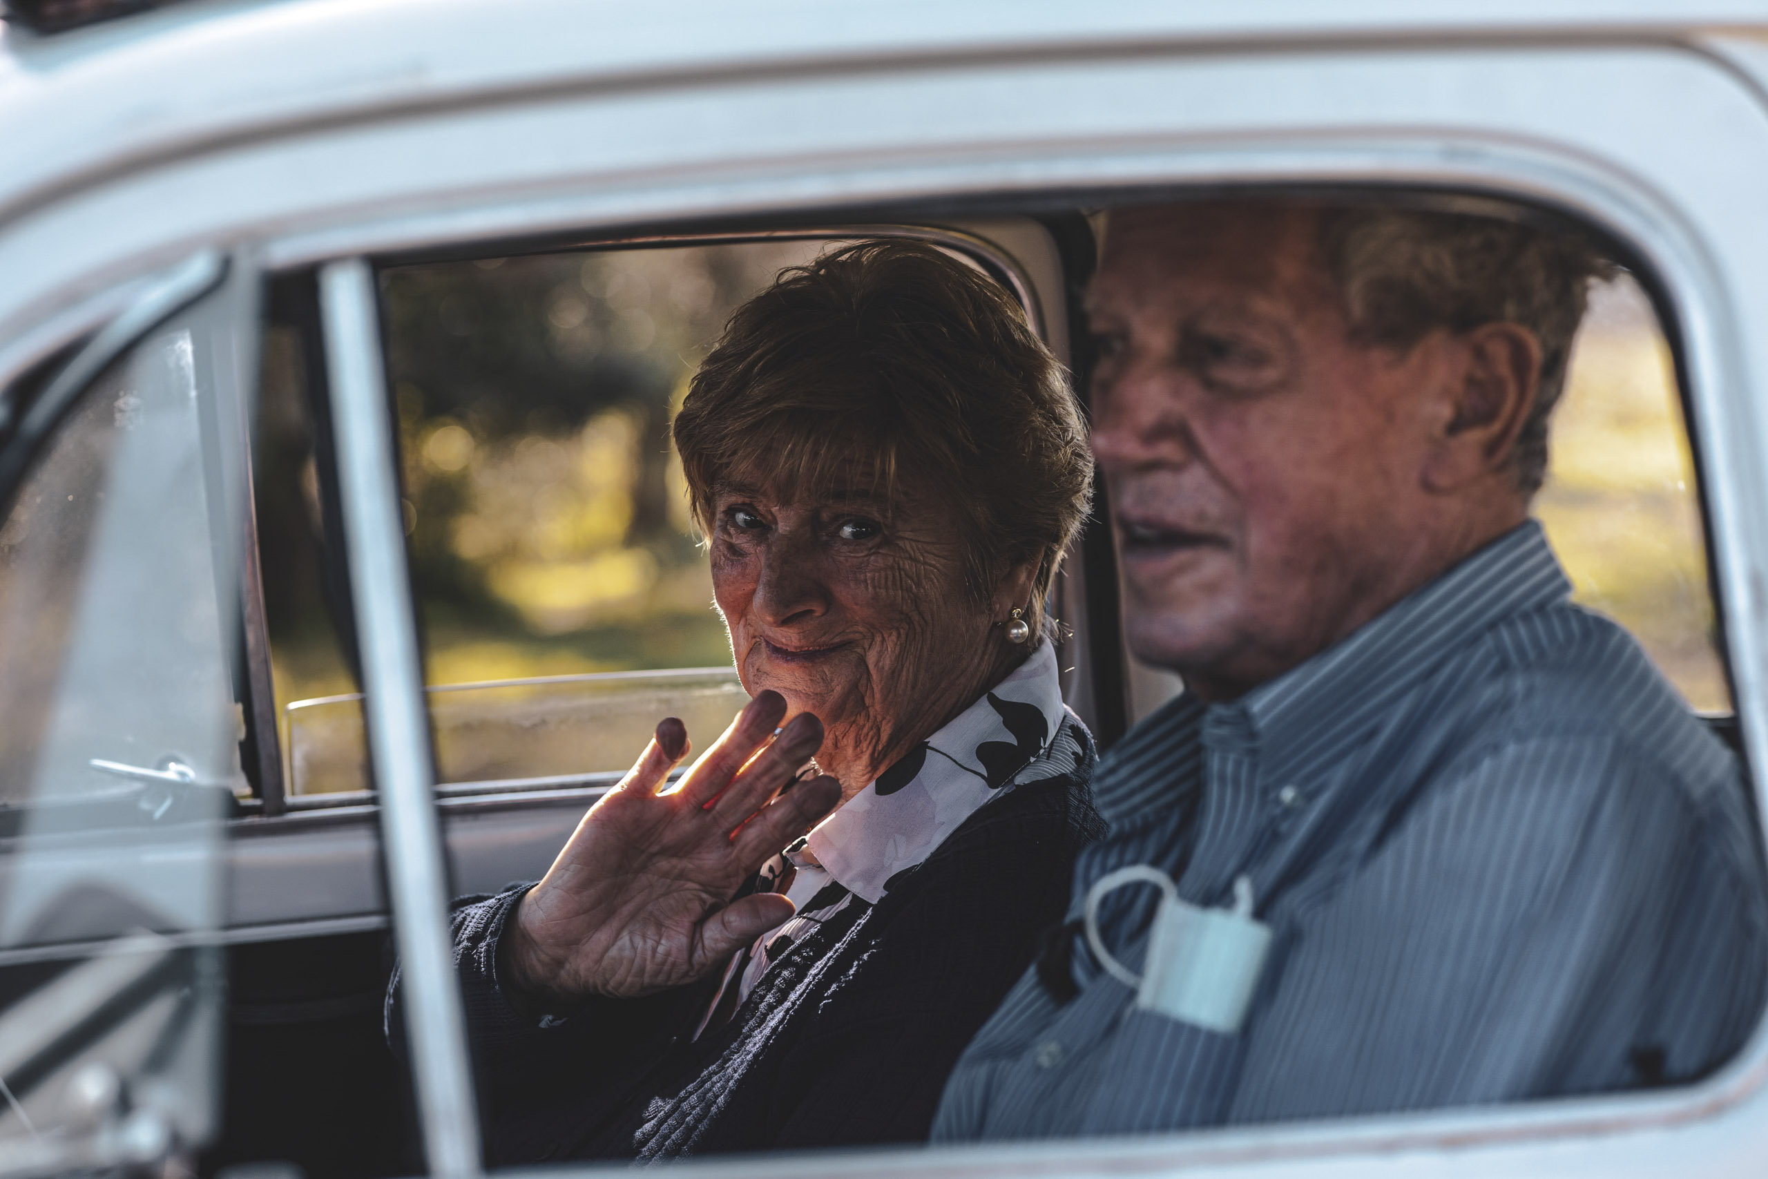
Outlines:
[[[668,426],[730,313],[826,246],[553,253],[382,274],[430,682],[728,665]],[[316,530],[311,428],[274,384],[267,401],[279,408],[265,410],[260,451],[293,456],[283,484],[309,488],[295,509]],[[260,467],[276,477],[274,458]],[[267,567],[265,582],[278,704],[354,691],[316,578]]]

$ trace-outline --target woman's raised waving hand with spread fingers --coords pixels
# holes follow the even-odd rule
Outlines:
[[[822,744],[808,712],[774,737],[783,716],[780,693],[755,696],[668,794],[659,790],[688,757],[688,730],[675,718],[658,725],[509,917],[500,969],[522,1006],[566,1011],[592,995],[677,986],[792,916],[792,901],[773,893],[730,900],[842,801],[826,776],[780,794]]]

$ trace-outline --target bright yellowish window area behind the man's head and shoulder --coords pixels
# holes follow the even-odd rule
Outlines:
[[[1533,511],[1572,599],[1625,626],[1690,705],[1729,714],[1674,357],[1627,272],[1591,286]],[[1133,656],[1128,665],[1133,719],[1181,688]]]

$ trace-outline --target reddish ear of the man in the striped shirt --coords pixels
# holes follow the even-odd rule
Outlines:
[[[1508,467],[1540,387],[1542,345],[1520,323],[1482,323],[1455,345],[1448,405],[1423,472],[1432,491],[1455,491]]]

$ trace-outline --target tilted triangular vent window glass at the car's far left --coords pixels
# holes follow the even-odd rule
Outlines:
[[[225,290],[11,405],[78,394],[0,523],[0,1156],[44,1168],[214,1130],[205,942],[248,792],[233,323]]]

